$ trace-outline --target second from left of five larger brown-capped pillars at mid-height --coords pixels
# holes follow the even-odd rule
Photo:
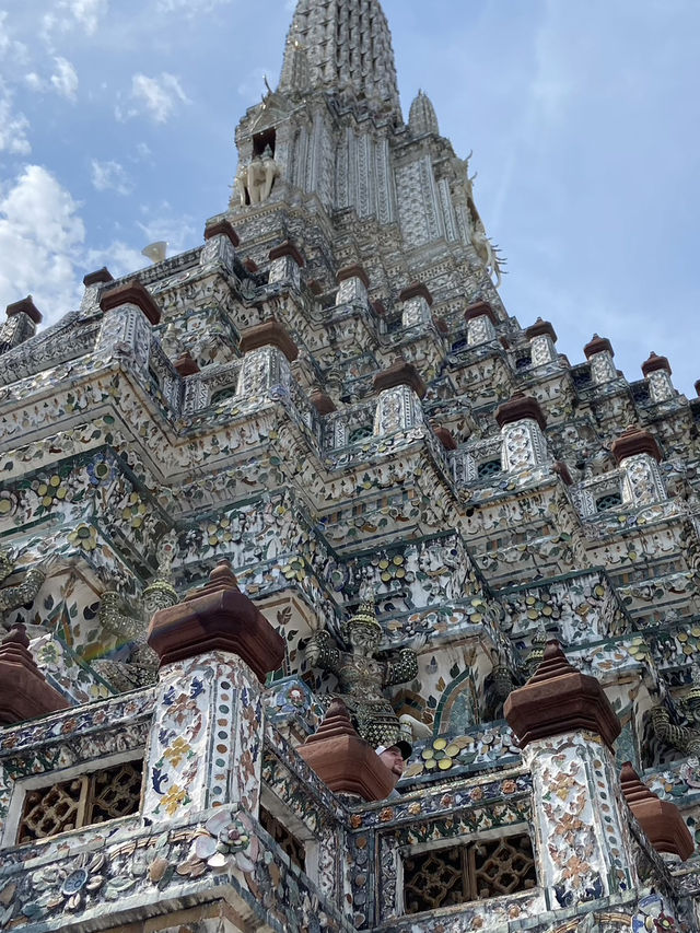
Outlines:
[[[292,382],[290,363],[299,355],[296,345],[277,320],[248,327],[241,335],[244,353],[236,394],[248,398],[266,395],[282,386],[289,390]]]

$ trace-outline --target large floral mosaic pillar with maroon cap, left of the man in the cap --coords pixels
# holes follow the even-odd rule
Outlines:
[[[229,561],[151,619],[160,658],[143,817],[166,823],[223,804],[256,814],[262,690],[284,641],[238,590]]]

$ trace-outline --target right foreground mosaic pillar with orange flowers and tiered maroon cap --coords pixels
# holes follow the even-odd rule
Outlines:
[[[612,743],[620,723],[595,677],[547,643],[534,677],[503,707],[533,775],[547,907],[575,907],[639,883]]]

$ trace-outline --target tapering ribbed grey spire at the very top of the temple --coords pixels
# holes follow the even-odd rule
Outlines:
[[[399,110],[392,36],[378,0],[299,0],[280,91],[305,90],[306,67],[312,89],[351,91],[377,109]]]

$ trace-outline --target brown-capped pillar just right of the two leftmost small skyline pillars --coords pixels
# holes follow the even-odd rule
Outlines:
[[[104,314],[95,343],[95,355],[131,359],[144,376],[151,353],[151,329],[160,324],[161,312],[150,292],[137,281],[103,291],[100,307]]]

